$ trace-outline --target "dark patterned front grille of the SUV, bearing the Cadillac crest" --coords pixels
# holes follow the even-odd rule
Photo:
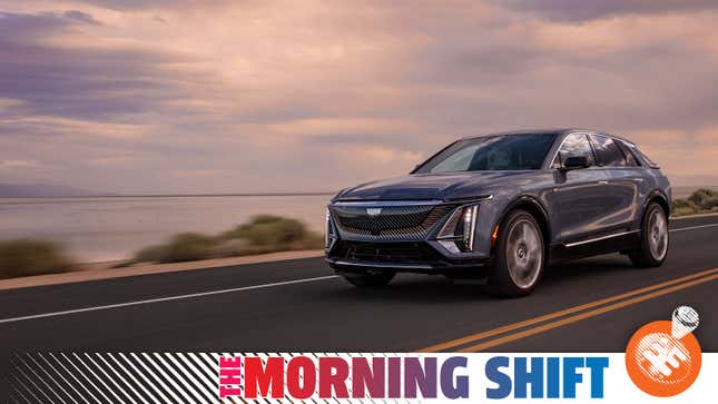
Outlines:
[[[420,240],[444,218],[455,205],[383,206],[370,215],[367,207],[333,206],[332,216],[343,239],[352,240]],[[378,208],[378,207],[377,207]]]

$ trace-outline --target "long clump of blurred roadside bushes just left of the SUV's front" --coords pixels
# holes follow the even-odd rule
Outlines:
[[[167,243],[137,252],[132,263],[178,263],[218,257],[316,249],[324,246],[322,235],[311,231],[297,219],[272,215],[253,217],[216,236],[183,233]]]

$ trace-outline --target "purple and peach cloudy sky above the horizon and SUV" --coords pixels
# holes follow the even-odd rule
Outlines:
[[[6,0],[0,183],[336,190],[578,126],[716,185],[716,21],[715,0]]]

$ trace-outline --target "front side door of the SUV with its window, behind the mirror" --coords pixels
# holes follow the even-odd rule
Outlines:
[[[563,171],[568,157],[586,156],[590,167]],[[596,158],[587,134],[573,132],[563,138],[551,164],[554,185],[548,194],[553,239],[570,243],[599,235],[607,214],[608,178]]]

